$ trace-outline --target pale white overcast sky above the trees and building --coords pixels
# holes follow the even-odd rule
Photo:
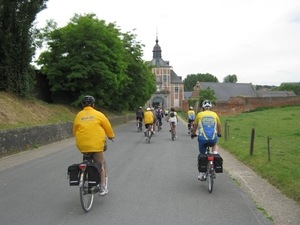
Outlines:
[[[210,73],[219,82],[300,82],[299,0],[49,0],[38,27],[63,27],[75,13],[115,22],[145,45],[152,59],[158,32],[162,58],[178,76]],[[135,31],[133,31],[136,29]]]

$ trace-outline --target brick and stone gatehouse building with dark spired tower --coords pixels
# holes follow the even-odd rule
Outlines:
[[[153,58],[148,61],[152,66],[152,73],[156,76],[156,92],[147,101],[146,107],[160,106],[162,109],[174,107],[176,110],[182,109],[182,100],[184,99],[184,83],[182,77],[178,76],[170,66],[169,61],[162,59],[161,48],[156,44],[153,48]]]

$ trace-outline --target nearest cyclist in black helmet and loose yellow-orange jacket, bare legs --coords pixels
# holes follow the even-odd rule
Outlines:
[[[104,168],[104,145],[106,136],[109,139],[115,137],[112,126],[107,117],[94,109],[95,99],[86,95],[82,100],[83,109],[77,113],[73,122],[73,134],[76,139],[76,146],[81,153],[93,152],[95,162],[102,165],[99,195],[105,195],[108,190],[105,188]]]

